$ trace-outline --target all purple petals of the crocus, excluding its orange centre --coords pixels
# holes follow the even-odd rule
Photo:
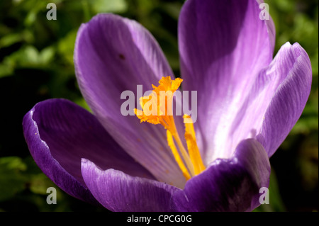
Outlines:
[[[179,16],[183,90],[197,91],[196,142],[206,169],[186,180],[161,125],[123,116],[121,92],[152,89],[172,69],[136,21],[95,16],[79,28],[77,81],[94,114],[64,99],[37,103],[23,132],[40,169],[71,196],[113,211],[250,211],[269,157],[300,117],[311,67],[298,44],[273,59],[260,1],[188,0]],[[184,130],[182,122],[176,122]]]

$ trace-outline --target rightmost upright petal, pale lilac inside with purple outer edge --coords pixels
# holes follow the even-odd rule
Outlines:
[[[215,146],[214,156],[227,156],[219,147],[226,145],[232,150],[240,140],[258,135],[270,157],[300,117],[310,94],[311,77],[306,51],[298,43],[283,45],[269,67],[247,86],[247,96],[242,96],[233,121],[224,128],[228,136],[220,137],[225,144]]]

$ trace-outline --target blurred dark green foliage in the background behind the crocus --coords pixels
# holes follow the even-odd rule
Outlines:
[[[57,20],[48,21],[48,3]],[[318,1],[268,0],[276,48],[289,41],[305,48],[313,87],[291,134],[271,158],[270,204],[255,211],[318,211]],[[155,36],[179,75],[177,21],[183,0],[0,1],[0,211],[100,211],[68,196],[38,169],[23,139],[22,118],[38,101],[68,98],[88,108],[74,74],[77,30],[96,13],[135,19]],[[57,205],[46,189],[57,188]]]

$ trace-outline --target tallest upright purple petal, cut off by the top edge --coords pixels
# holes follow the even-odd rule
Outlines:
[[[194,126],[206,164],[214,150],[234,150],[223,146],[234,113],[247,95],[246,87],[272,62],[274,24],[272,18],[259,19],[259,3],[189,0],[181,9],[181,77],[184,90],[197,91]]]

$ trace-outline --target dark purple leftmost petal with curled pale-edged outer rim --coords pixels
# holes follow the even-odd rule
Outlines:
[[[94,115],[71,101],[37,103],[23,118],[23,132],[40,169],[57,186],[86,202],[97,203],[81,175],[82,157],[102,169],[153,178],[116,144]]]

